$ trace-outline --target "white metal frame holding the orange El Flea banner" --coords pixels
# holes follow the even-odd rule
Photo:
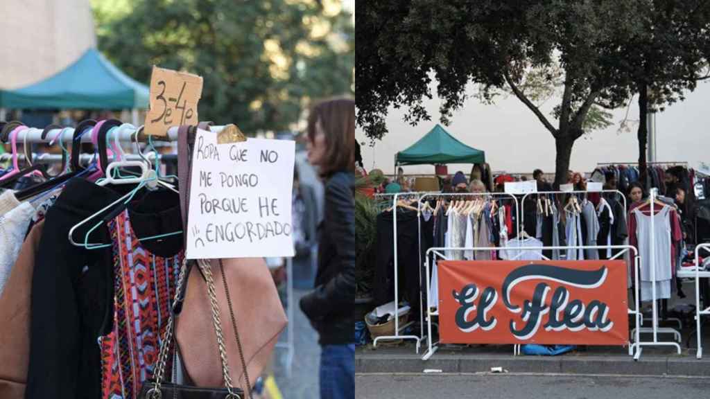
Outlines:
[[[430,263],[429,263],[430,254],[435,255],[435,262],[436,262],[436,257],[447,260],[447,256],[444,255],[444,253],[446,251],[492,251],[492,250],[497,250],[497,249],[501,249],[501,248],[498,248],[498,247],[471,247],[471,248],[438,247],[438,248],[430,248],[429,250],[427,250],[426,264],[425,264],[427,279],[429,278],[430,273],[431,273],[430,272]],[[612,250],[619,249],[619,250],[621,250],[619,253],[617,253],[615,256],[613,256],[611,259],[609,259],[610,261],[618,258],[618,256],[622,256],[627,251],[633,252],[634,269],[636,270],[635,288],[634,288],[636,310],[632,310],[629,307],[627,309],[627,312],[628,312],[628,315],[635,316],[634,319],[635,319],[635,324],[636,324],[637,328],[635,329],[635,333],[633,334],[633,337],[634,337],[633,343],[629,342],[628,354],[629,354],[629,356],[635,356],[634,359],[638,360],[638,356],[640,356],[640,350],[641,350],[640,349],[640,344],[641,344],[640,343],[640,329],[638,328],[639,323],[640,323],[640,316],[641,316],[641,313],[638,312],[639,298],[640,298],[639,284],[638,284],[640,262],[639,262],[638,250],[635,247],[630,246],[630,245],[617,245],[617,246],[614,246],[614,245],[599,246],[599,245],[597,245],[597,246],[525,246],[525,247],[520,247],[520,248],[516,247],[515,251],[518,251],[518,255],[516,256],[516,258],[517,258],[518,256],[521,256],[524,253],[524,251],[567,250],[567,249],[582,249],[582,250],[584,250],[584,249],[597,249],[597,250],[599,250],[599,249],[612,249]],[[545,257],[544,255],[542,255],[542,258],[546,259],[547,261],[550,260],[549,258]],[[515,260],[515,259],[511,259],[511,260]],[[626,266],[624,266],[624,267],[626,267]],[[623,293],[623,295],[627,295],[626,290]],[[432,317],[439,315],[439,306],[438,306],[438,304],[436,304],[437,305],[436,310],[432,311],[432,304],[430,303],[429,299],[430,298],[427,295],[427,346],[428,347],[427,347],[427,351],[425,352],[424,356],[422,356],[422,360],[430,359],[432,357],[432,355],[435,354],[435,352],[437,351],[438,344],[439,344],[439,342],[434,342],[432,339]],[[520,354],[520,345],[519,344],[515,344],[513,346],[513,354],[514,355]]]

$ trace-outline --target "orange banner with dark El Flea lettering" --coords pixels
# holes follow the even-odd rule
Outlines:
[[[439,261],[447,344],[628,343],[624,261]]]

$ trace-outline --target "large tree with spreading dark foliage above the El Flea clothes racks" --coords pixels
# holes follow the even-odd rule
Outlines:
[[[387,131],[389,106],[406,106],[412,124],[429,120],[422,100],[432,97],[432,80],[444,123],[463,106],[466,84],[479,84],[489,101],[508,87],[555,138],[559,185],[594,104],[615,107],[628,98],[612,84],[623,58],[613,38],[640,33],[634,11],[631,0],[365,1],[357,11],[356,34],[368,43],[356,48],[357,123],[376,139]],[[563,90],[555,125],[526,82],[552,81],[557,68]]]

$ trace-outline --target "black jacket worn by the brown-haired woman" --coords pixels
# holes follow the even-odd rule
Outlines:
[[[320,334],[321,345],[355,341],[354,176],[339,172],[325,184],[315,290],[300,300],[301,310]]]

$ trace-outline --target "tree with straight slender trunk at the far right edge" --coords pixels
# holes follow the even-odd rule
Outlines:
[[[637,4],[635,18],[642,28],[632,37],[616,38],[625,56],[618,62],[614,81],[618,89],[638,94],[638,163],[645,182],[646,116],[682,101],[688,90],[709,76],[710,2],[644,0]]]

